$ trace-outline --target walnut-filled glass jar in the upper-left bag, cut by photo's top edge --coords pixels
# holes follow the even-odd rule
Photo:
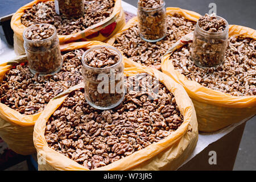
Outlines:
[[[84,0],[55,0],[55,11],[63,18],[84,16]]]

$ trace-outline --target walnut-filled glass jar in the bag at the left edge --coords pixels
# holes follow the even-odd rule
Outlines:
[[[27,32],[31,32],[31,30],[33,30],[32,28],[40,28],[43,26],[50,27],[54,31],[53,35],[43,40],[29,40],[26,38]],[[47,33],[43,32],[43,34]],[[60,53],[57,30],[53,25],[39,23],[30,26],[23,32],[23,40],[27,54],[28,68],[33,74],[39,73],[39,75],[48,75],[60,71],[63,59]]]

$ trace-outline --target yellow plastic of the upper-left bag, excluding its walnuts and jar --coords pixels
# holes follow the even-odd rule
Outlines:
[[[16,13],[11,18],[11,28],[13,28],[14,31],[14,51],[16,55],[20,55],[24,53],[24,47],[23,47],[23,31],[26,29],[26,27],[21,23],[20,18],[24,13],[24,10],[30,9],[34,4],[37,4],[39,2],[46,2],[49,0],[35,0],[27,5],[24,5],[20,7],[16,11]],[[53,0],[50,0],[53,1]],[[94,38],[86,38],[89,35],[92,35],[103,28],[107,26],[112,26],[112,24],[115,24],[115,28],[113,32],[108,36],[105,37],[101,33],[98,34],[98,36]],[[122,27],[125,26],[125,13],[122,9],[121,0],[115,0],[115,5],[112,14],[106,18],[104,21],[94,24],[93,26],[90,26],[86,28],[85,30],[81,32],[77,32],[75,34],[71,35],[58,35],[60,44],[64,44],[67,42],[75,42],[77,40],[83,40],[83,41],[92,41],[92,40],[98,40],[101,42],[105,42],[107,39],[112,37],[116,32],[122,29]]]

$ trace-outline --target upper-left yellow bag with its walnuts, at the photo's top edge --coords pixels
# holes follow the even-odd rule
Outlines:
[[[11,28],[14,31],[14,51],[17,55],[24,53],[22,34],[25,28],[32,24],[53,24],[57,29],[60,44],[77,40],[104,42],[125,26],[121,0],[85,1],[84,16],[80,18],[58,15],[55,2],[59,1],[35,0],[20,7],[13,15]],[[59,9],[61,5],[59,2]]]

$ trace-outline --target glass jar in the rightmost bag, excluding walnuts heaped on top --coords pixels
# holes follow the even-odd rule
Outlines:
[[[216,18],[221,19],[220,16],[216,16]],[[217,65],[223,63],[229,37],[229,25],[226,20],[225,22],[226,27],[224,31],[208,32],[203,30],[197,21],[193,36],[191,56],[198,67],[217,67]]]

